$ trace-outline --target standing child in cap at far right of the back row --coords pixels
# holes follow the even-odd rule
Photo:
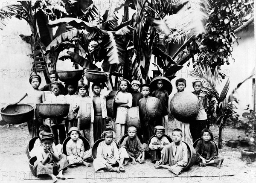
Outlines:
[[[200,132],[206,128],[207,124],[207,98],[205,96],[205,93],[202,91],[203,83],[200,79],[196,79],[192,82],[195,96],[199,99],[200,104],[200,110],[198,115],[195,117],[195,120],[191,122],[190,124],[190,132],[193,138],[193,142],[195,142],[197,139],[199,139]]]

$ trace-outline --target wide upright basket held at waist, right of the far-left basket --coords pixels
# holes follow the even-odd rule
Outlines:
[[[36,104],[38,114],[42,118],[55,118],[67,116],[70,104]]]

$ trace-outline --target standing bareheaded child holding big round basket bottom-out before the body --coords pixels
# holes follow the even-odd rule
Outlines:
[[[175,82],[175,85],[178,90],[177,93],[183,92],[186,88],[186,80],[184,78],[178,78]],[[183,132],[181,140],[192,145],[193,140],[192,140],[189,126],[190,126],[189,122],[186,122],[186,121],[181,122],[177,119],[174,119],[174,128],[179,128]]]

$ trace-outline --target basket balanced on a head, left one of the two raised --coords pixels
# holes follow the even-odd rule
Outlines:
[[[58,77],[61,81],[79,81],[83,75],[83,69],[76,70],[58,70]]]

